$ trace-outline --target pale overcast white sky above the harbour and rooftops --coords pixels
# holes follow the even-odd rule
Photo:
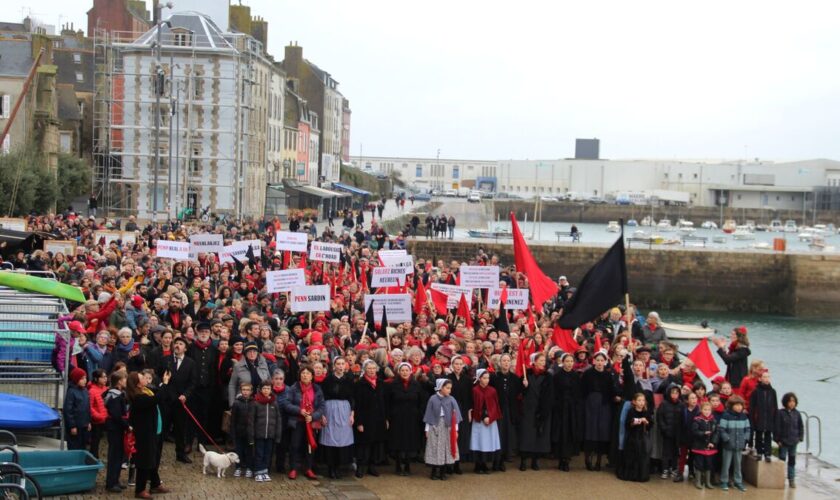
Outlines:
[[[92,3],[3,0],[4,20],[86,26]],[[353,155],[562,158],[598,137],[606,158],[840,159],[837,1],[243,3],[278,60],[296,40],[340,82]]]

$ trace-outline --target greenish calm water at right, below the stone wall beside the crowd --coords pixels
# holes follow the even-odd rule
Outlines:
[[[750,350],[754,359],[767,363],[773,386],[781,399],[785,392],[799,396],[800,410],[822,419],[821,458],[840,465],[840,321],[816,321],[771,315],[750,315],[723,312],[659,311],[663,321],[699,324],[707,320],[711,327],[728,336],[734,326],[749,330]],[[681,341],[680,351],[690,352],[696,342]],[[713,351],[714,345],[710,345]],[[715,355],[717,357],[717,355]],[[718,364],[723,362],[718,359]],[[828,381],[820,379],[834,376]],[[812,436],[817,431],[812,425]],[[816,440],[812,438],[816,453]],[[804,443],[800,451],[804,451]]]

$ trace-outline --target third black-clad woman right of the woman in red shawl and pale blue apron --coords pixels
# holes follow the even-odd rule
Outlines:
[[[554,372],[554,409],[551,412],[551,442],[559,459],[558,468],[569,471],[571,457],[580,453],[583,435],[580,373],[574,370],[575,357],[563,353],[560,368]]]

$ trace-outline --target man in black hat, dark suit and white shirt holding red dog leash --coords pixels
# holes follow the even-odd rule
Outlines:
[[[167,385],[171,397],[169,414],[172,416],[175,438],[175,459],[185,464],[192,463],[184,448],[187,429],[187,412],[184,404],[192,398],[196,381],[195,361],[187,356],[187,341],[177,337],[172,341],[172,356],[166,359],[166,371],[172,374]]]

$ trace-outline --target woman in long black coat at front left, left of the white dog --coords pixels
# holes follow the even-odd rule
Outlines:
[[[163,386],[168,386],[170,372],[163,374]],[[166,388],[157,394],[147,387],[148,379],[138,372],[128,374],[128,400],[131,406],[129,424],[134,430],[135,452],[134,465],[137,469],[135,477],[135,498],[151,498],[152,494],[168,493],[169,490],[161,484],[158,473],[157,446],[160,439],[160,413],[158,405]],[[151,490],[146,491],[146,483],[150,483]]]

